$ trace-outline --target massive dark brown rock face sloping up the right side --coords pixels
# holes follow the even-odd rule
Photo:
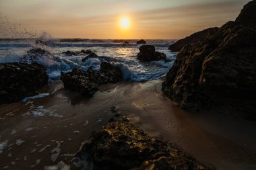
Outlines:
[[[250,4],[255,7],[255,3],[246,5],[243,15],[249,15]],[[249,13],[246,9],[250,9]],[[177,54],[162,90],[181,108],[214,108],[255,119],[255,47],[255,27],[243,25],[241,20],[228,22]]]

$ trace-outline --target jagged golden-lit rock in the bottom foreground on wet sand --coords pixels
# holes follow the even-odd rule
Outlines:
[[[86,140],[76,156],[84,155],[92,161],[94,170],[209,169],[172,144],[148,136],[132,124],[115,120]]]

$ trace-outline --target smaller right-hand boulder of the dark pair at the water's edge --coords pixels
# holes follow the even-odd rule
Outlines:
[[[101,62],[100,73],[108,77],[109,83],[117,83],[123,79],[123,72],[119,67],[113,67],[109,62]]]

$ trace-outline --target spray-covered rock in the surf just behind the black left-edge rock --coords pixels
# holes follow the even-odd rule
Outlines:
[[[42,48],[33,48],[31,50],[28,50],[26,54],[24,54],[24,56],[19,58],[19,61],[34,62],[35,60],[42,58],[42,56],[51,56],[51,52],[44,50]]]

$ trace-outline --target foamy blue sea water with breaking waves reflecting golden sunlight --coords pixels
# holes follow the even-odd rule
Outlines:
[[[49,46],[40,46],[49,50],[52,56],[43,56],[36,62],[47,68],[47,73],[51,80],[58,80],[61,71],[70,71],[73,68],[86,71],[89,67],[100,69],[100,63],[104,60],[112,62],[116,67],[120,67],[124,73],[123,79],[131,81],[148,81],[164,76],[172,67],[175,54],[168,50],[168,46],[175,40],[146,40],[148,44],[156,46],[156,50],[164,52],[168,62],[163,60],[152,62],[139,62],[137,54],[139,44],[137,40],[129,40],[130,44],[124,45],[122,41],[114,40],[77,40],[77,39],[52,39],[48,40]],[[27,50],[36,48],[35,40],[0,40],[0,62],[15,62],[23,56]],[[65,56],[61,54],[67,50],[81,51],[92,50],[102,56],[101,58],[90,58],[82,62],[82,58],[87,54],[78,56]]]

